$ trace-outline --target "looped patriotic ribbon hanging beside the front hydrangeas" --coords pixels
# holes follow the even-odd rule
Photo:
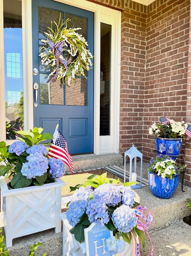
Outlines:
[[[144,207],[144,206],[138,206],[135,210],[135,215],[136,217],[138,217],[138,221],[137,221],[137,228],[139,230],[145,231],[145,233],[148,236],[148,239],[150,240],[150,244],[151,244],[151,251],[150,254],[148,256],[152,256],[154,249],[153,249],[153,244],[151,242],[150,236],[148,234],[148,227],[150,226],[150,224],[153,221],[153,214],[151,213],[151,211]],[[147,211],[147,216],[145,217],[145,211]],[[135,232],[133,232],[133,230],[131,230],[133,237],[135,239],[135,255],[136,256],[141,256],[140,255],[140,237],[138,236],[138,234]]]

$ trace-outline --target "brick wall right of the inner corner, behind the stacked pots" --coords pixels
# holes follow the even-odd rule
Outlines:
[[[157,0],[148,6],[143,154],[153,156],[148,127],[158,116],[186,119],[190,1]]]

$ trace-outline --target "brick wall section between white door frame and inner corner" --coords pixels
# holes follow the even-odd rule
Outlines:
[[[146,6],[126,1],[122,12],[120,153],[142,150],[146,54]]]

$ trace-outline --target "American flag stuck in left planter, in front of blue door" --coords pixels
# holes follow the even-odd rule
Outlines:
[[[65,164],[68,165],[68,167],[71,169],[71,172],[74,174],[72,157],[68,153],[66,140],[58,129],[56,129],[53,134],[53,140],[51,141],[51,146],[48,151],[48,157],[61,159]]]

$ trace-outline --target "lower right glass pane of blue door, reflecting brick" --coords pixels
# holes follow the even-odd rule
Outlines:
[[[87,79],[77,78],[73,85],[66,83],[66,105],[87,106]]]

